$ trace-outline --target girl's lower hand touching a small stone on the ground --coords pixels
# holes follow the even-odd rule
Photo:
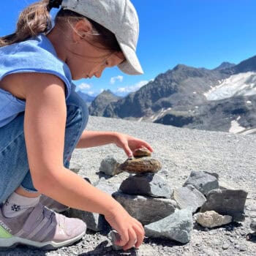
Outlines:
[[[143,225],[137,219],[132,218],[119,203],[113,212],[114,214],[105,215],[105,219],[121,237],[116,241],[116,245],[122,246],[124,250],[132,246],[138,248],[145,236]]]

